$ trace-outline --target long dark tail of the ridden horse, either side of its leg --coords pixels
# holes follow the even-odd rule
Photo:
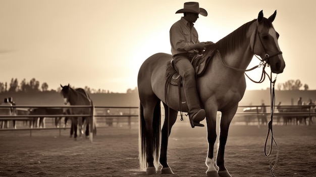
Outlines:
[[[139,106],[139,139],[138,139],[138,151],[139,151],[139,165],[140,169],[144,170],[147,167],[147,141],[146,141],[146,123],[144,119],[143,106]],[[152,121],[153,135],[152,135],[152,152],[154,166],[157,168],[159,165],[159,153],[160,153],[160,136],[161,136],[161,106],[160,101],[155,105],[153,111]]]

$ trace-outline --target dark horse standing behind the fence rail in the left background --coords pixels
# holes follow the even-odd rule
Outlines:
[[[82,88],[77,88],[73,89],[69,86],[62,86],[62,91],[61,94],[64,97],[64,103],[70,104],[70,105],[78,105],[78,106],[93,106],[93,102],[90,99],[90,96],[84,91]],[[94,110],[93,110],[94,111]],[[87,107],[73,107],[70,110],[71,114],[90,114],[91,113],[91,108]],[[89,116],[83,116],[83,117],[72,117],[72,126],[74,130],[74,138],[77,139],[77,129],[79,125],[79,133],[81,136],[81,130],[82,130],[82,123],[85,122],[86,124],[86,130],[85,130],[85,136],[88,138],[89,135],[89,129],[90,129],[90,122],[92,120],[92,117]],[[95,123],[93,125],[93,134],[96,133],[96,127]]]

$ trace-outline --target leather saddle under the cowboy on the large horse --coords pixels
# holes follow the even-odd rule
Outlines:
[[[204,74],[204,71],[206,69],[207,63],[210,61],[210,59],[214,56],[214,50],[210,52],[209,55],[205,56],[203,54],[196,54],[191,61],[191,64],[195,70],[195,76],[199,77]],[[167,69],[166,69],[166,79],[169,81],[172,85],[179,85],[182,84],[182,77],[179,75],[179,73],[175,70],[174,61],[171,60],[167,63]]]

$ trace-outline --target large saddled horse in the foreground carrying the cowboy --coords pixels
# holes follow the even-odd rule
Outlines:
[[[260,64],[270,66],[273,73],[282,73],[285,68],[278,44],[279,34],[272,25],[275,17],[276,11],[268,19],[264,18],[260,11],[257,19],[245,23],[216,44],[206,48],[203,53],[203,58],[208,60],[208,63],[205,64],[203,74],[196,79],[196,87],[201,106],[206,111],[207,176],[231,176],[224,165],[225,145],[229,125],[246,89],[244,72],[252,57],[259,55],[262,58]],[[159,162],[162,165],[162,173],[173,173],[167,163],[168,138],[176,122],[178,111],[188,111],[183,98],[183,88],[181,88],[181,102],[178,86],[170,85],[166,89],[168,84],[166,68],[171,60],[170,54],[153,54],[144,61],[138,73],[139,162],[141,169],[146,169],[147,174],[156,173]],[[161,101],[166,115],[162,130]],[[215,159],[213,153],[217,139],[217,111],[222,112],[222,117],[219,149]],[[160,136],[162,138],[159,152]]]

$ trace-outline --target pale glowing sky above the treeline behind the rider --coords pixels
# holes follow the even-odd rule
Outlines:
[[[68,83],[126,93],[137,87],[141,64],[157,52],[171,53],[169,30],[187,1],[178,0],[0,0],[0,82],[35,78],[48,89]],[[316,1],[205,0],[208,16],[195,28],[200,41],[217,42],[263,10],[280,34],[286,67],[277,82],[314,82]],[[248,68],[258,65],[253,58]],[[266,71],[270,73],[270,68]],[[259,80],[261,70],[248,73]],[[273,77],[276,77],[274,75]],[[247,90],[270,87],[247,80]]]

